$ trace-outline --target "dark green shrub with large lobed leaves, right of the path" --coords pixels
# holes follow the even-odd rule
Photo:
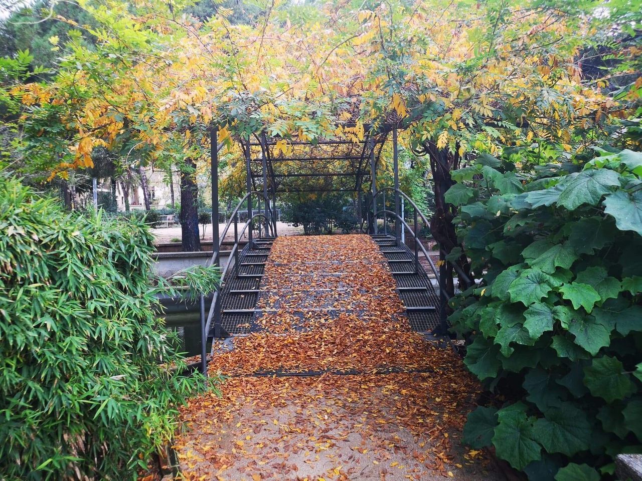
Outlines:
[[[610,478],[616,454],[642,452],[642,154],[600,154],[535,175],[482,155],[446,194],[482,278],[451,321],[505,400],[471,413],[464,441],[531,480]]]

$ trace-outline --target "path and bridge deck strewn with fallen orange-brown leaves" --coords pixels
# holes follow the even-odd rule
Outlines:
[[[459,441],[478,384],[453,351],[412,332],[394,286],[367,235],[276,239],[265,331],[214,357],[211,371],[231,376],[222,398],[182,411],[184,477],[494,479]],[[291,375],[256,376],[266,371]],[[323,374],[300,375],[311,371]]]

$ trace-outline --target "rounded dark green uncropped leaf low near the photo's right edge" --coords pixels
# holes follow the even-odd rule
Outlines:
[[[591,366],[584,367],[584,385],[607,403],[624,399],[636,390],[620,360],[609,356],[593,359]]]

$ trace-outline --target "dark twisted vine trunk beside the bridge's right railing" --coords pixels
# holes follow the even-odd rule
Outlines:
[[[433,173],[433,181],[435,182],[435,215],[430,221],[430,231],[439,244],[440,249],[449,255],[454,248],[459,247],[462,249],[462,255],[456,260],[455,264],[459,269],[471,277],[471,265],[468,258],[463,253],[464,246],[457,240],[457,233],[453,219],[457,215],[457,209],[452,204],[446,202],[446,192],[453,185],[455,181],[451,177],[451,171],[460,167],[461,158],[455,152],[451,153],[447,149],[439,149],[433,142],[424,145],[426,153],[430,159],[430,169]],[[446,292],[449,296],[455,295],[455,283],[453,282],[453,264],[446,262]],[[440,267],[441,268],[441,267]],[[469,283],[461,276],[459,278],[462,288],[467,289]]]

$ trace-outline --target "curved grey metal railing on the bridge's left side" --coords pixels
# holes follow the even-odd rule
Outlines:
[[[216,323],[220,323],[220,316],[221,316],[221,303],[220,303],[220,296],[219,293],[221,291],[221,287],[223,286],[223,281],[225,280],[225,275],[228,273],[230,267],[232,266],[232,260],[234,260],[234,264],[236,267],[238,267],[238,251],[239,251],[239,241],[241,237],[243,237],[243,234],[247,230],[247,228],[250,228],[250,234],[248,235],[248,241],[252,242],[252,224],[254,222],[254,219],[256,217],[263,217],[265,220],[265,227],[266,230],[270,230],[270,233],[272,234],[272,237],[276,237],[276,223],[270,222],[270,219],[265,214],[254,214],[250,215],[247,219],[247,222],[243,224],[243,228],[239,232],[238,230],[238,212],[241,208],[241,205],[250,198],[253,194],[256,194],[257,196],[260,196],[263,198],[265,201],[265,212],[270,212],[270,216],[272,215],[272,210],[268,207],[270,204],[268,199],[265,197],[263,192],[259,192],[257,190],[252,190],[245,194],[245,196],[239,201],[239,203],[236,205],[236,208],[232,210],[232,213],[230,214],[229,220],[227,221],[227,224],[225,224],[225,228],[223,228],[223,232],[220,233],[219,235],[219,240],[218,240],[218,246],[212,246],[212,257],[210,260],[205,264],[206,266],[213,266],[214,264],[217,264],[219,262],[220,258],[220,253],[221,253],[221,246],[223,246],[223,241],[225,240],[225,236],[227,235],[227,232],[230,230],[230,226],[234,224],[234,245],[232,246],[232,249],[230,251],[230,255],[227,258],[227,263],[225,264],[225,267],[221,270],[221,280],[220,280],[220,286],[216,291],[214,291],[214,294],[212,296],[212,303],[209,307],[209,312],[207,314],[207,317],[205,317],[205,294],[206,292],[202,293],[200,296],[200,327],[201,327],[201,372],[207,376],[207,335],[209,333],[210,327],[212,325],[212,321],[214,319],[215,327]],[[249,210],[248,210],[249,212]],[[219,324],[220,325],[220,324]]]

